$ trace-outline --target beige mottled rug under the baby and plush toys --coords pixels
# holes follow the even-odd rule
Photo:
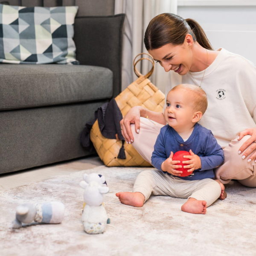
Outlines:
[[[99,166],[1,192],[0,255],[256,255],[256,189],[233,181],[227,199],[216,201],[206,215],[182,212],[185,199],[165,196],[151,196],[141,208],[121,204],[115,193],[131,191],[143,169]],[[84,172],[105,175],[110,188],[105,208],[111,224],[103,234],[88,235],[82,228]],[[65,204],[61,224],[10,228],[18,204],[52,200]]]

